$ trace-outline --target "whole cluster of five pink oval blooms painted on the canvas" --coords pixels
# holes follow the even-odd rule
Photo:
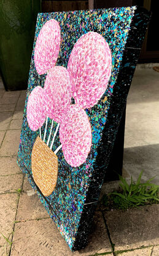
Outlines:
[[[84,109],[97,104],[107,89],[111,50],[103,36],[90,31],[74,45],[67,70],[54,67],[59,50],[60,27],[52,19],[42,27],[34,53],[37,72],[40,75],[49,72],[44,90],[37,86],[29,96],[27,118],[34,131],[43,125],[45,115],[60,123],[64,158],[72,167],[79,167],[87,159],[92,141],[91,125]]]

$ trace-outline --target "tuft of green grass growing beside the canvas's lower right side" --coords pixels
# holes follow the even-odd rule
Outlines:
[[[145,183],[141,183],[141,176],[142,171],[136,183],[131,176],[131,183],[129,185],[125,178],[119,175],[119,185],[122,191],[114,191],[108,195],[105,194],[101,203],[108,208],[121,210],[138,207],[139,205],[158,203],[159,186],[151,182],[155,177],[150,178]]]

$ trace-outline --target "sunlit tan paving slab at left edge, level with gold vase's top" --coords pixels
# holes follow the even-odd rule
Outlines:
[[[17,155],[21,130],[7,131],[0,149],[1,156]]]

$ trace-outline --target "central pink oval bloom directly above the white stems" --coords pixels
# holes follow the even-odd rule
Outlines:
[[[56,66],[50,70],[44,84],[46,114],[60,123],[71,104],[71,84],[66,68]]]

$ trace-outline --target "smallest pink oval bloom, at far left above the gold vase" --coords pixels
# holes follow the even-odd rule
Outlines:
[[[45,122],[44,89],[37,86],[33,89],[28,98],[26,115],[29,127],[36,131]]]

